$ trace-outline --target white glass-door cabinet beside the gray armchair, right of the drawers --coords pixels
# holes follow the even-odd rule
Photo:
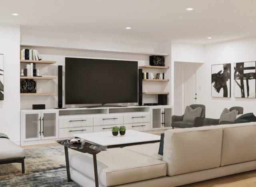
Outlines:
[[[161,130],[171,128],[172,106],[161,105],[152,106],[151,110],[151,130]]]

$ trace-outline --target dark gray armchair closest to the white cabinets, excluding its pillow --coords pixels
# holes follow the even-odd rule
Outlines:
[[[204,124],[205,118],[205,106],[203,104],[191,104],[190,107],[195,109],[197,107],[202,108],[202,113],[200,117],[194,118],[194,121],[183,121],[184,114],[182,116],[172,116],[172,128],[190,128],[190,127],[199,127]]]

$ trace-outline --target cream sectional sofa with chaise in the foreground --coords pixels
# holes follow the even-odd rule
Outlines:
[[[166,130],[159,143],[97,154],[100,186],[174,187],[256,169],[256,122]],[[70,154],[70,176],[94,187],[92,156]]]

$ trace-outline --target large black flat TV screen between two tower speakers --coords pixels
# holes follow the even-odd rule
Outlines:
[[[65,104],[138,102],[138,62],[65,58]]]

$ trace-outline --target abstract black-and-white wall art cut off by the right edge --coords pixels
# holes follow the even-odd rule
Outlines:
[[[256,98],[256,62],[234,63],[234,97]]]

